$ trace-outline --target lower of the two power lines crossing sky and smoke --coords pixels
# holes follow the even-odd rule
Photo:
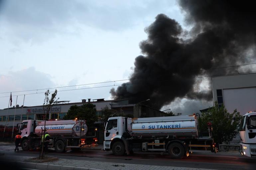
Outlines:
[[[254,72],[245,72],[245,73],[256,73],[256,71],[254,71]],[[240,73],[240,74],[244,74],[244,73]],[[197,78],[205,78],[205,77],[213,77],[213,76],[227,76],[227,75],[237,75],[237,73],[222,74],[222,75],[211,75],[211,76],[200,76],[200,77],[191,77],[191,78],[183,78],[183,79],[197,79]],[[136,78],[136,79],[139,79],[139,78]],[[132,79],[127,79],[127,80],[132,80]],[[160,81],[156,81],[156,82],[166,82],[166,81],[172,81],[172,80],[160,80]],[[115,81],[111,81],[111,82],[115,82]],[[142,84],[142,83],[125,83],[125,84],[120,84],[120,85],[134,85],[134,84]],[[91,89],[91,88],[100,88],[100,87],[112,87],[112,86],[119,86],[119,85],[106,85],[106,86],[97,86],[97,87],[85,87],[85,88],[75,88],[75,89],[59,90],[59,91],[72,91],[72,90]],[[54,92],[54,91],[51,91],[51,92]],[[30,94],[42,94],[42,93],[45,93],[45,92],[18,94],[18,95],[12,95],[12,96],[30,95]],[[3,97],[10,97],[10,96],[0,96],[0,98],[3,98]]]

